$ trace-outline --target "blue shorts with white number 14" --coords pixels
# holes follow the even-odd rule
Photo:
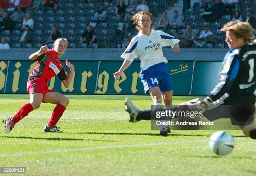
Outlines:
[[[159,87],[162,92],[173,90],[169,68],[164,62],[153,65],[141,71],[141,82],[145,94],[153,87]]]

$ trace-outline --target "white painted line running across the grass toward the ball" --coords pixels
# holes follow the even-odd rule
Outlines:
[[[234,138],[236,140],[245,139],[243,138]],[[194,142],[208,142],[209,140],[190,140],[182,142],[166,142],[166,143],[145,143],[145,144],[134,144],[134,145],[109,145],[102,147],[90,147],[90,148],[72,148],[66,150],[46,150],[39,152],[24,152],[24,153],[13,153],[13,154],[0,154],[0,157],[9,157],[9,156],[24,156],[24,155],[34,155],[34,154],[44,154],[44,153],[66,153],[74,151],[84,151],[84,150],[101,150],[101,149],[110,149],[110,148],[131,148],[131,147],[145,147],[145,146],[154,146],[154,145],[169,145],[169,144],[184,144],[184,143],[194,143]]]

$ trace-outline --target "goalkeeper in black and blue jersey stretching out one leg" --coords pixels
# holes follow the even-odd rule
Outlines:
[[[225,42],[230,50],[225,55],[222,67],[219,72],[220,80],[210,94],[203,99],[193,99],[184,102],[175,107],[169,107],[171,111],[187,110],[203,111],[205,117],[208,112],[220,112],[219,105],[233,105],[234,107],[245,107],[246,110],[236,110],[233,117],[229,116],[233,125],[239,125],[243,133],[256,139],[256,128],[253,122],[253,113],[255,111],[256,88],[256,40],[253,42],[253,28],[250,23],[241,21],[230,21],[226,23],[221,31],[226,32]],[[125,110],[130,114],[130,122],[139,120],[151,120],[151,110],[140,111],[133,105],[130,99],[126,99]],[[185,106],[184,106],[185,105]],[[186,106],[187,105],[187,106]],[[253,105],[253,106],[252,106]],[[249,114],[248,114],[249,110]],[[252,114],[251,114],[252,113]],[[223,118],[219,115],[216,117],[207,117],[209,120]],[[222,115],[223,116],[223,115]],[[236,118],[238,117],[238,118]]]

